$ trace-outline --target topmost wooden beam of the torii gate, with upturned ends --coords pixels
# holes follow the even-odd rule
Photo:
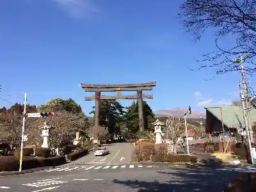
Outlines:
[[[156,86],[155,82],[149,82],[149,83],[136,83],[136,84],[86,84],[81,83],[82,88],[137,88],[137,87],[143,87],[143,86]]]

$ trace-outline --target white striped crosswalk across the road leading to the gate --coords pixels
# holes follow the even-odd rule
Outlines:
[[[143,166],[142,164],[102,164],[102,166],[74,166],[74,167],[61,167],[61,168],[54,168],[52,170],[46,170],[46,172],[69,172],[69,171],[79,171],[79,170],[106,170],[106,169],[124,169],[124,168],[153,168],[153,167],[158,167],[158,166],[150,166],[150,165],[145,165]]]

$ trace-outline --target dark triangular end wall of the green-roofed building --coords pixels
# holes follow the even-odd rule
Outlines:
[[[224,129],[227,127],[224,125]],[[206,120],[205,120],[205,132],[220,132],[222,131],[221,121],[218,120],[212,113],[206,110]]]

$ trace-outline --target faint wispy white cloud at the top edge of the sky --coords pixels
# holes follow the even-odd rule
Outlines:
[[[61,8],[73,17],[81,18],[90,13],[98,12],[91,0],[54,0]]]

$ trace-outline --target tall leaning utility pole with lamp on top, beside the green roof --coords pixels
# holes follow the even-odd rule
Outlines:
[[[248,130],[249,130],[249,135],[251,138],[251,141],[253,142],[253,132],[252,132],[252,124],[251,124],[251,115],[250,115],[250,110],[249,110],[249,103],[248,103],[248,89],[246,86],[246,78],[244,74],[244,57],[241,55],[240,57],[235,58],[234,63],[239,63],[240,68],[241,68],[241,75],[242,75],[242,81],[243,81],[243,90],[244,90],[244,101],[245,101],[245,113],[246,113],[246,118],[248,118]]]

